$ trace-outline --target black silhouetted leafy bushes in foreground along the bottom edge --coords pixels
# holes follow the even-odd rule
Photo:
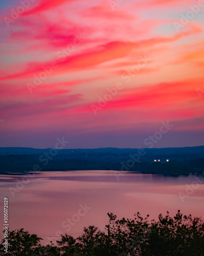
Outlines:
[[[23,229],[8,231],[8,252],[4,243],[0,246],[1,255],[12,256],[201,256],[204,255],[204,222],[201,218],[181,214],[180,210],[171,218],[169,212],[159,220],[149,221],[148,215],[142,218],[135,214],[134,219],[117,220],[108,214],[106,231],[95,226],[84,228],[78,238],[61,235],[57,246],[42,246],[36,234]]]

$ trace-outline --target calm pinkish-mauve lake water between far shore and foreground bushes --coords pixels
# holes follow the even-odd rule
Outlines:
[[[133,218],[139,211],[143,217],[149,214],[150,219],[167,210],[173,216],[178,209],[186,215],[204,215],[204,185],[194,175],[121,175],[111,170],[33,175],[0,175],[0,223],[3,230],[3,200],[7,197],[10,229],[36,233],[44,239],[42,244],[55,242],[60,233],[76,237],[84,226],[104,230],[109,221],[107,212]]]

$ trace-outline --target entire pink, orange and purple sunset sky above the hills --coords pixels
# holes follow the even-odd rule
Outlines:
[[[24,6],[24,7],[23,7]],[[204,1],[1,0],[0,146],[204,145]]]

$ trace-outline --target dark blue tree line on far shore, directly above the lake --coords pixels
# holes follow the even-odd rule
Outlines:
[[[65,159],[64,156],[40,162],[38,155],[9,155],[0,156],[0,173],[21,172],[24,170],[32,172],[34,166],[39,171],[60,170],[122,170],[133,171],[144,174],[166,174],[166,175],[188,175],[196,173],[203,175],[204,158],[189,159],[187,161],[171,160],[169,162],[146,162],[140,161],[134,164],[127,162],[109,162],[102,160]],[[128,161],[128,160],[127,160]],[[46,164],[45,164],[46,163]],[[124,167],[125,166],[125,167]],[[132,166],[132,167],[126,167]]]

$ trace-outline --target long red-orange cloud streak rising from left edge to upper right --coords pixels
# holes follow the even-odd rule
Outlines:
[[[133,50],[145,51],[146,48],[155,47],[158,44],[167,44],[185,36],[202,32],[202,29],[199,27],[195,27],[194,25],[191,25],[190,27],[191,30],[175,34],[171,37],[154,37],[137,42],[111,41],[105,45],[100,45],[97,48],[94,47],[93,49],[72,55],[68,58],[66,57],[66,54],[59,52],[57,54],[58,58],[56,58],[59,67],[52,75],[69,73],[73,70],[86,70],[106,61],[125,57],[131,54]],[[19,79],[33,76],[43,71],[42,66],[50,66],[50,62],[33,62],[28,63],[28,66],[29,67],[23,72],[1,77],[0,80]]]

